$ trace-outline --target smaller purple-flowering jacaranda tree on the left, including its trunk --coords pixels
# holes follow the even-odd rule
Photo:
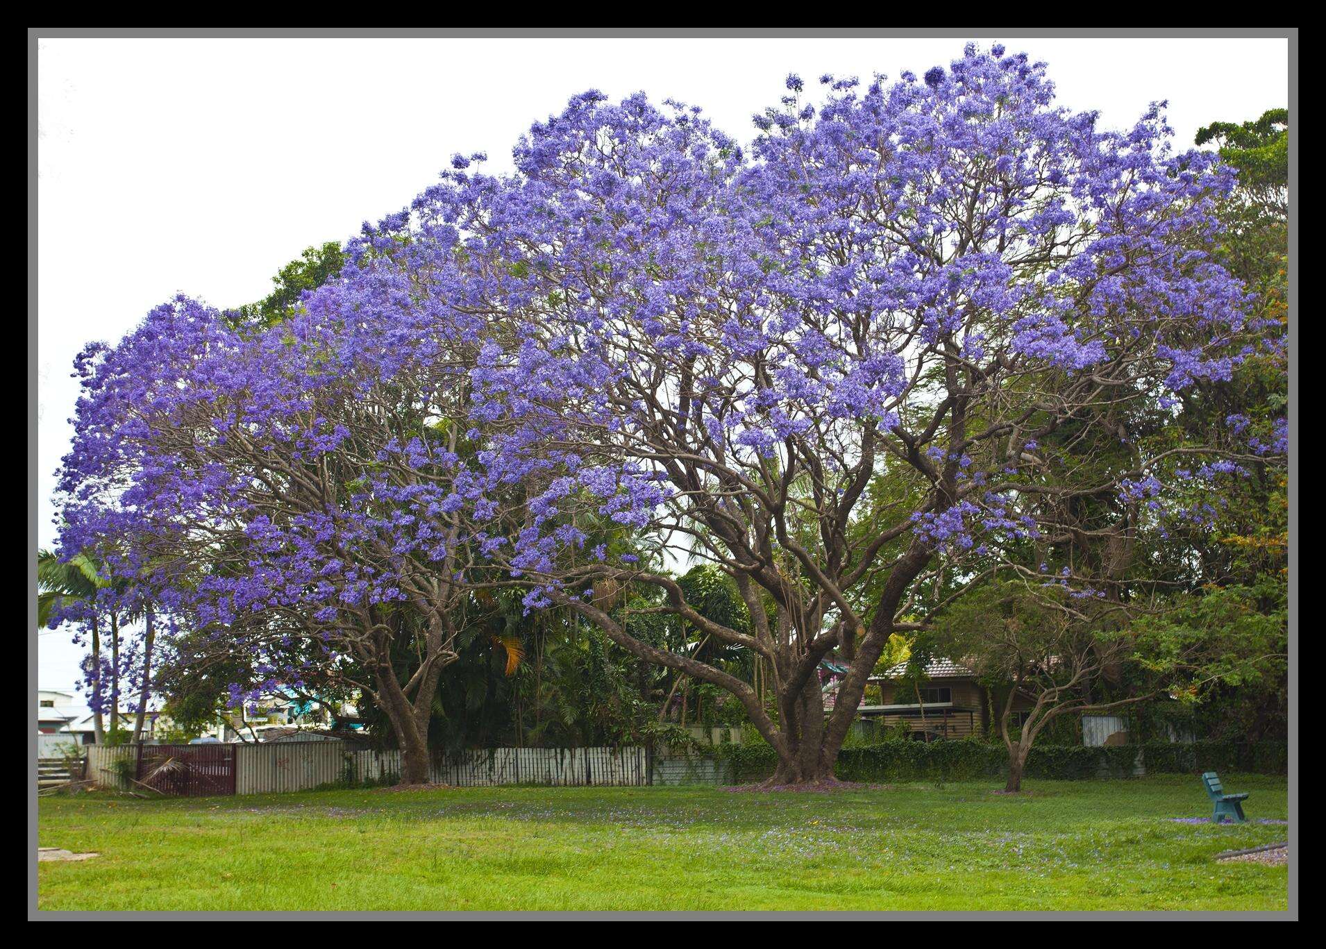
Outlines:
[[[353,685],[386,710],[418,782],[464,622],[444,501],[467,363],[457,321],[411,306],[414,273],[361,251],[343,281],[267,330],[176,300],[119,346],[91,347],[62,549],[101,550],[131,524],[142,558],[187,563],[176,602],[203,632],[190,661],[245,656],[236,704],[363,672]],[[403,640],[418,661],[402,679]]]

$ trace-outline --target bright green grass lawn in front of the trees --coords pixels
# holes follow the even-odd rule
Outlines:
[[[1248,816],[1286,781],[1223,775]],[[1286,909],[1285,867],[1219,864],[1289,827],[1207,816],[1195,777],[899,785],[341,790],[44,798],[41,909]],[[1296,856],[1292,854],[1292,858]]]

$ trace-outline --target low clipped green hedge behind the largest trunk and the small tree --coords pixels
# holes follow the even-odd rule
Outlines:
[[[1284,742],[1196,742],[1171,745],[1033,745],[1026,761],[1026,777],[1057,781],[1087,778],[1127,778],[1132,775],[1138,752],[1148,774],[1196,774],[1207,770],[1284,774],[1289,754]],[[754,783],[773,774],[778,759],[765,744],[728,745],[715,749],[732,763],[736,783]],[[883,741],[878,745],[845,748],[838,753],[835,773],[842,781],[964,781],[1001,777],[1008,770],[1008,752],[976,738],[960,741]]]

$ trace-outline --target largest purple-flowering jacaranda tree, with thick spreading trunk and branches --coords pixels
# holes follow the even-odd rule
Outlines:
[[[1074,498],[1131,510],[1109,528],[1131,535],[1233,477],[1223,443],[1150,452],[1128,425],[1228,378],[1262,329],[1209,256],[1232,178],[1172,154],[1159,106],[1102,130],[998,48],[924,80],[823,82],[814,109],[789,77],[751,155],[695,110],[578,97],[521,142],[516,175],[460,159],[394,231],[456,227],[465,311],[500,327],[471,374],[479,460],[529,502],[485,550],[532,607],[574,606],[735,695],[778,752],[776,782],[831,779],[869,673],[930,591],[1025,570]],[[1041,447],[1055,437],[1102,448],[1065,468]],[[1177,467],[1187,494],[1167,506]],[[862,504],[879,478],[904,502]],[[640,551],[585,545],[602,517]],[[731,574],[751,631],[695,611],[648,549]],[[656,585],[768,661],[776,713],[633,638],[586,599],[603,579]],[[1090,579],[1071,592],[1126,581]],[[850,671],[826,718],[815,668],[834,649]]]

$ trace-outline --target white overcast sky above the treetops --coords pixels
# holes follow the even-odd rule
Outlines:
[[[983,38],[989,45],[993,38]],[[1020,40],[1059,103],[1130,125],[1170,101],[1176,143],[1288,105],[1285,40]],[[37,537],[69,445],[74,354],[176,292],[235,306],[300,252],[406,205],[453,152],[507,171],[534,121],[586,89],[751,115],[800,73],[890,78],[961,56],[945,40],[44,40],[38,45]],[[38,638],[42,688],[80,653]]]

